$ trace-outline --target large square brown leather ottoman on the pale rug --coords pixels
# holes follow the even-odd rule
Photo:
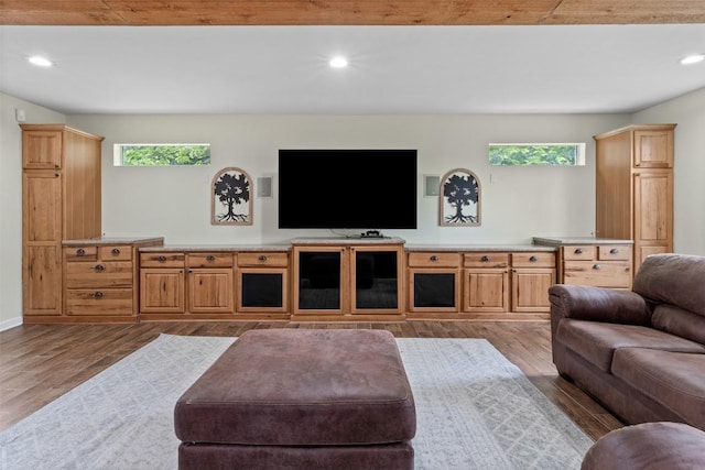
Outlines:
[[[413,395],[386,330],[249,330],[178,398],[180,469],[412,469]]]

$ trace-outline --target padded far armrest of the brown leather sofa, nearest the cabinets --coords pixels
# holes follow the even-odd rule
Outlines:
[[[623,325],[650,325],[647,300],[631,291],[555,284],[549,288],[553,334],[563,318]]]

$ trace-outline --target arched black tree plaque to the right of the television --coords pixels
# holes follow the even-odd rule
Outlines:
[[[480,181],[475,173],[455,168],[441,179],[438,225],[477,227],[480,225]]]

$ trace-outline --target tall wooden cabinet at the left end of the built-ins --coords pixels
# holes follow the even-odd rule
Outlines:
[[[62,240],[100,237],[100,142],[64,124],[22,128],[24,323],[62,315]]]

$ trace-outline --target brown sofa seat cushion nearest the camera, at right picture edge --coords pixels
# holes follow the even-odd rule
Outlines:
[[[705,429],[705,351],[685,353],[643,348],[615,351],[612,374],[687,424]]]

